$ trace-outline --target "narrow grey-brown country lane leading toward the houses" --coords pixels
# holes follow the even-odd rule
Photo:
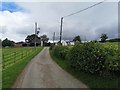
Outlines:
[[[44,48],[26,66],[14,84],[15,88],[87,88],[60,68]]]

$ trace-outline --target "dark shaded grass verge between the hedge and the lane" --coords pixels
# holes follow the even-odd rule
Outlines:
[[[107,45],[107,43],[106,43]],[[109,46],[109,45],[108,45]],[[50,50],[50,55],[52,59],[64,70],[69,72],[71,75],[73,75],[78,80],[85,83],[89,88],[95,89],[95,88],[111,88],[116,89],[118,88],[118,78],[109,79],[109,78],[103,78],[97,75],[92,75],[85,72],[76,71],[75,69],[71,68],[67,60],[62,60],[59,57],[56,57],[52,51]]]

